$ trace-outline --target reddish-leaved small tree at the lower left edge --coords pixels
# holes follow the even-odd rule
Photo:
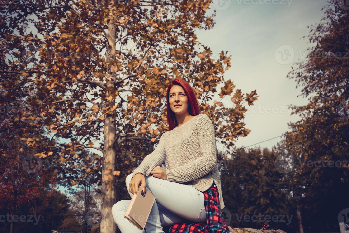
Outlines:
[[[35,136],[35,132],[27,136]],[[57,171],[37,166],[38,158],[18,137],[16,130],[0,133],[0,209],[9,211],[10,219],[20,215],[22,205],[36,197],[43,198],[43,191],[52,189],[57,181]],[[12,140],[8,141],[9,138]],[[11,220],[10,233],[14,227]]]

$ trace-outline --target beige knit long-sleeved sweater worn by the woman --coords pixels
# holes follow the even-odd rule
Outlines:
[[[206,114],[199,114],[162,134],[158,146],[144,157],[134,174],[145,178],[165,162],[167,180],[206,191],[215,182],[221,209],[224,208],[218,172],[215,130]],[[132,176],[133,177],[133,176]]]

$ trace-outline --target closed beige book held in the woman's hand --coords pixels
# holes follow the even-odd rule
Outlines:
[[[124,214],[124,218],[130,221],[139,230],[143,230],[154,202],[155,196],[147,189],[143,192],[142,185],[139,185],[138,192],[133,195]]]

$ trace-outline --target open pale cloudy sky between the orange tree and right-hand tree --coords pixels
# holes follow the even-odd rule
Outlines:
[[[296,80],[287,74],[314,46],[303,36],[309,35],[307,26],[325,16],[321,8],[326,4],[326,0],[214,0],[209,13],[216,10],[215,26],[196,30],[198,41],[217,58],[222,50],[228,51],[231,67],[224,80],[230,79],[242,93],[256,90],[259,95],[254,106],[246,104],[244,123],[251,132],[237,139],[238,148],[274,138],[252,146],[271,149],[281,140],[278,136],[290,131],[287,123],[299,121],[288,106],[309,100],[299,96],[301,87],[296,89]],[[230,97],[225,99],[224,104],[232,107]],[[217,149],[223,150],[223,145],[217,143]]]

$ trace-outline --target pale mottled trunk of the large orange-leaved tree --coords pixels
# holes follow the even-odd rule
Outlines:
[[[116,10],[113,2],[110,3],[107,33],[107,62],[111,62],[115,59],[115,25],[114,25],[114,14]],[[105,97],[108,99],[111,96],[114,89],[114,80],[110,73],[114,72],[114,66],[107,66],[108,74],[106,81]],[[106,102],[106,111],[111,110],[115,104],[115,100],[108,99]],[[108,108],[109,107],[109,108]],[[103,166],[102,166],[102,219],[100,225],[101,233],[114,233],[116,232],[116,224],[114,223],[113,216],[111,214],[111,208],[115,204],[115,189],[114,189],[114,164],[115,164],[115,149],[114,139],[116,137],[116,125],[115,116],[112,112],[107,112],[104,115],[104,148],[103,148]]]

